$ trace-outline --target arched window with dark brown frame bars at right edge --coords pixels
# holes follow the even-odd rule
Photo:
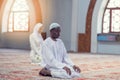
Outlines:
[[[108,0],[102,22],[103,33],[120,32],[120,0]]]

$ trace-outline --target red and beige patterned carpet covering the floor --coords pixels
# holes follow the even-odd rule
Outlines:
[[[70,80],[120,80],[120,55],[69,54],[82,72]],[[69,80],[39,76],[29,51],[0,49],[0,80]]]

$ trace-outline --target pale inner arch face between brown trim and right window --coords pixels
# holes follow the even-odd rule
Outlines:
[[[97,53],[97,33],[99,33],[102,27],[102,16],[104,13],[105,5],[108,0],[98,0],[93,12],[92,28],[91,28],[91,52]]]

